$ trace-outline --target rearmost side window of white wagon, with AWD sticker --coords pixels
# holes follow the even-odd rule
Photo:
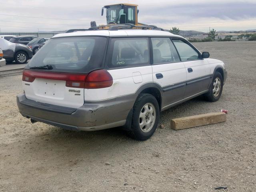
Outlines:
[[[109,68],[149,64],[148,38],[113,38],[110,46]]]

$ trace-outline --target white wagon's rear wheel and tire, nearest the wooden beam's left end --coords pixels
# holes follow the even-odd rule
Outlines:
[[[154,134],[159,118],[156,98],[151,94],[140,94],[133,107],[130,136],[136,140],[147,140]]]

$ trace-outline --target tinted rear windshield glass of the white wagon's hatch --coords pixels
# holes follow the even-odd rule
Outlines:
[[[33,56],[26,69],[51,65],[59,72],[90,72],[102,68],[107,38],[70,37],[46,42]]]

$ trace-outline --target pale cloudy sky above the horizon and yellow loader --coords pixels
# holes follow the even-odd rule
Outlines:
[[[138,4],[138,21],[165,29],[256,29],[256,0],[0,0],[1,32],[88,28],[106,24],[106,4]],[[21,17],[23,16],[23,17]],[[40,18],[34,18],[40,17]]]

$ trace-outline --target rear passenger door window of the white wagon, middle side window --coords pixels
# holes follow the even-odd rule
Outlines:
[[[154,64],[179,62],[180,58],[170,38],[151,38]]]

